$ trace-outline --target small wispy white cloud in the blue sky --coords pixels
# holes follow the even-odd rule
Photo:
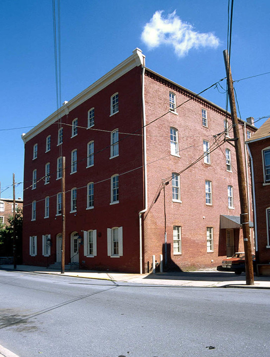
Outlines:
[[[141,40],[152,49],[162,44],[172,45],[178,57],[184,57],[192,48],[212,47],[219,45],[219,39],[212,33],[196,32],[191,24],[183,22],[176,11],[168,17],[162,16],[163,11],[156,11],[146,23],[141,34]]]

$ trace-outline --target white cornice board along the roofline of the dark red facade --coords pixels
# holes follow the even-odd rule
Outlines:
[[[29,130],[26,134],[22,135],[22,140],[24,143],[32,139],[34,136],[42,132],[45,128],[53,124],[55,121],[59,120],[64,115],[67,115],[71,110],[78,107],[80,104],[85,102],[87,99],[94,96],[96,93],[100,92],[102,89],[106,88],[109,84],[113,83],[115,80],[120,78],[125,73],[129,72],[134,67],[139,65],[143,66],[145,63],[145,56],[142,55],[140,49],[136,48],[133,51],[133,55],[118,64],[104,76],[99,78],[96,82],[91,84],[88,88],[83,90],[81,93],[72,98],[68,103],[64,104],[61,108],[51,114],[48,118],[41,121],[33,129]]]

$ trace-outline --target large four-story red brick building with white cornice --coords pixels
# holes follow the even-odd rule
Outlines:
[[[66,262],[147,272],[163,254],[170,268],[220,265],[242,249],[230,135],[228,113],[135,49],[23,135],[24,263],[61,260],[66,157]]]

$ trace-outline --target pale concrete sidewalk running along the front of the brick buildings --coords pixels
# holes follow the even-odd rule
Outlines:
[[[1,270],[14,271],[13,265],[1,265]],[[118,283],[136,283],[141,285],[162,285],[203,288],[249,288],[270,289],[270,277],[254,277],[253,286],[246,285],[245,274],[235,275],[232,272],[204,270],[194,272],[166,272],[157,274],[127,274],[116,272],[100,272],[94,270],[73,270],[61,274],[60,271],[46,267],[17,265],[16,271],[33,272],[40,274],[65,275],[76,278],[110,280]]]

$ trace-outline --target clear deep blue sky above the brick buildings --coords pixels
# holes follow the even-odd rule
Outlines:
[[[201,92],[225,77],[227,8],[227,0],[61,0],[61,103],[131,56],[136,47],[146,56],[147,67]],[[30,128],[3,129],[35,126],[57,108],[52,12],[50,0],[0,1],[1,197],[12,198],[12,187],[6,189],[12,184],[12,173],[16,182],[23,181],[21,134]],[[159,24],[152,19],[154,14]],[[234,1],[234,80],[270,71],[269,14],[269,0]],[[143,40],[146,24],[150,31]],[[199,42],[187,50],[189,44],[185,47],[179,37],[181,30]],[[157,31],[159,38],[153,41]],[[205,47],[200,34],[205,34]],[[266,74],[235,83],[242,119],[270,116],[269,80]],[[225,94],[216,88],[203,96],[226,106]],[[16,198],[22,196],[20,184]]]

